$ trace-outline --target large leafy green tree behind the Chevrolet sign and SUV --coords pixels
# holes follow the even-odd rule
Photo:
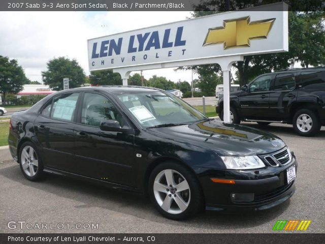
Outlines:
[[[230,1],[230,9],[242,9],[278,1]],[[321,1],[285,1],[289,3],[289,51],[276,54],[249,55],[244,56],[243,62],[234,63],[237,79],[240,85],[247,84],[258,75],[275,70],[286,69],[300,62],[303,67],[309,65],[318,66],[325,63],[325,12],[320,10]],[[224,10],[224,0],[203,0],[194,6],[193,17],[214,14]],[[302,12],[298,10],[310,10]],[[313,11],[314,10],[314,11]],[[312,12],[313,11],[313,12]],[[204,65],[192,67],[180,67],[179,69],[192,69],[199,75],[212,73],[220,74],[218,65]]]

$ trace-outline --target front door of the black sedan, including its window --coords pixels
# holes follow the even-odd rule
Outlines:
[[[102,131],[103,120],[130,128],[116,106],[104,95],[84,93],[75,127],[77,173],[117,184],[134,186],[134,134]]]

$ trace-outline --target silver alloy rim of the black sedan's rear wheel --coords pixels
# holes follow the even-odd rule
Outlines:
[[[26,175],[35,176],[39,167],[37,154],[31,146],[25,146],[21,151],[21,166]]]

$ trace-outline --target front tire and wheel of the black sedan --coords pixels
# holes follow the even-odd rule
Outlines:
[[[172,187],[168,186],[168,182]],[[180,191],[180,188],[184,190]],[[168,219],[183,220],[196,215],[203,208],[203,193],[198,179],[189,169],[176,162],[165,162],[153,169],[148,193],[160,214]]]

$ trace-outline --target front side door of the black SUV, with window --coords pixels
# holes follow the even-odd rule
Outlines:
[[[261,119],[267,116],[273,76],[268,74],[253,80],[249,84],[248,92],[239,97],[242,117]]]

